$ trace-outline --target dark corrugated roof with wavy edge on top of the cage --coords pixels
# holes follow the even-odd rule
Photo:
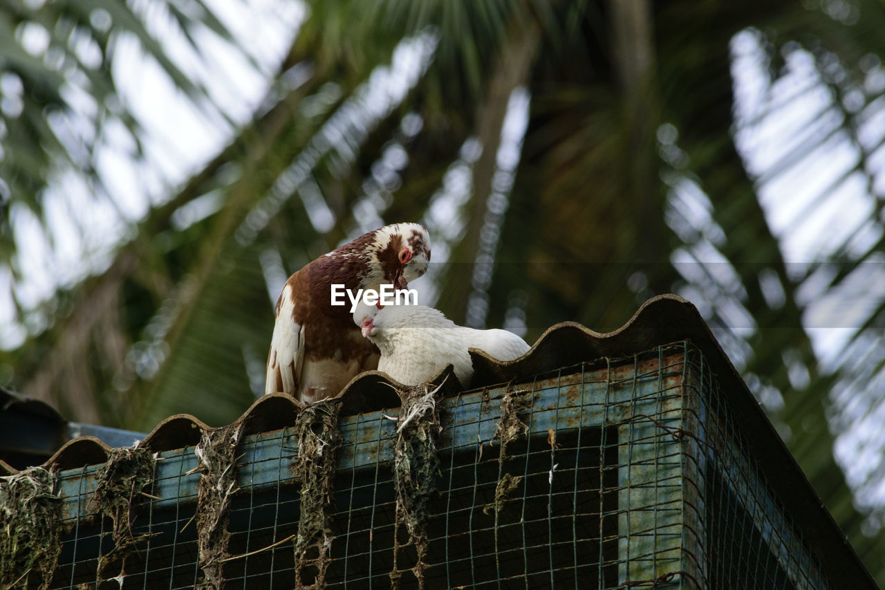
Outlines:
[[[686,299],[675,295],[649,299],[624,326],[605,334],[575,322],[558,323],[546,330],[531,350],[517,361],[498,362],[484,353],[472,352],[475,371],[472,388],[530,379],[582,361],[630,357],[681,340],[691,341],[710,362],[712,373],[718,377],[720,390],[732,408],[735,421],[754,425],[744,429],[750,454],[766,473],[774,492],[781,498],[789,498],[790,511],[803,515],[807,540],[814,553],[820,555],[821,562],[825,567],[829,563],[835,568],[834,571],[843,571],[843,574],[847,573],[847,563],[858,563],[859,566],[858,557],[845,540],[843,532],[789,454],[696,307]],[[447,371],[444,370],[435,377],[434,382],[441,383],[446,375]],[[378,371],[355,377],[342,392],[342,415],[398,407],[396,392],[383,383],[391,384],[388,377]],[[454,379],[448,379],[443,383],[443,392],[457,395],[461,391]],[[300,408],[301,404],[288,396],[266,395],[252,404],[237,422],[245,423],[245,434],[279,430],[294,423]],[[48,417],[55,419],[52,415]],[[173,415],[159,423],[143,439],[142,446],[154,452],[193,446],[206,430],[210,430],[209,427],[192,415]],[[65,443],[44,466],[65,470],[102,463],[107,460],[110,448],[96,437],[78,437]],[[0,462],[0,475],[15,471]],[[872,584],[872,578],[862,567],[849,569],[852,570],[850,577],[854,577],[858,585]]]

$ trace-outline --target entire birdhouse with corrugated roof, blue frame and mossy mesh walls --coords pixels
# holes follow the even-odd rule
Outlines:
[[[875,588],[687,301],[405,388],[265,396],[4,478],[43,588]],[[96,586],[97,584],[97,586]],[[85,586],[81,586],[85,585]]]

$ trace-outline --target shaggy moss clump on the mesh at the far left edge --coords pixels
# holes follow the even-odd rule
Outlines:
[[[61,553],[57,483],[42,467],[0,477],[0,587],[50,586]]]

